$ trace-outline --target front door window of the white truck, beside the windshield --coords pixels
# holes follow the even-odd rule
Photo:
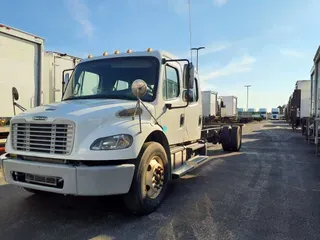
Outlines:
[[[163,99],[169,100],[179,96],[179,76],[178,71],[170,66],[166,66],[163,79]]]

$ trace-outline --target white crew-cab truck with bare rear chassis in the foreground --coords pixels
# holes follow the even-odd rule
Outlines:
[[[116,51],[82,60],[64,81],[61,102],[12,118],[0,161],[9,184],[36,194],[121,194],[128,209],[147,214],[171,179],[208,159],[208,142],[241,147],[241,126],[203,125],[187,59]]]

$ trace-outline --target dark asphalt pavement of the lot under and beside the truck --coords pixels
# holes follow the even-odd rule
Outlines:
[[[154,213],[120,197],[39,197],[0,175],[0,239],[320,239],[320,156],[280,121],[247,124],[242,149],[174,181]]]

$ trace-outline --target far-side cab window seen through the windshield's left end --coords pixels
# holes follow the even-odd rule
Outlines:
[[[83,72],[81,74],[80,96],[96,94],[99,86],[100,77],[92,72]]]

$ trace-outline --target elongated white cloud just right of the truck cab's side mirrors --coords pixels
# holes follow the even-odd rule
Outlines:
[[[201,74],[201,79],[207,81],[213,78],[229,76],[235,73],[249,72],[252,69],[252,65],[256,62],[256,59],[251,56],[244,56],[240,60],[231,61],[225,67],[214,70],[212,72]]]

